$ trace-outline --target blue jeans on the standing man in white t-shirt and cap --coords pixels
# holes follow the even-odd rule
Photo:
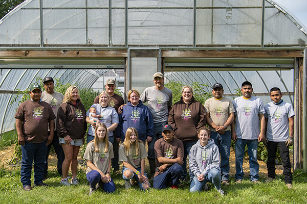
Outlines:
[[[235,142],[235,170],[236,174],[234,175],[236,181],[243,180],[243,158],[245,146],[247,145],[249,164],[250,164],[250,175],[249,179],[251,182],[258,181],[259,179],[259,164],[257,161],[257,149],[258,149],[258,140],[244,140],[238,139]]]

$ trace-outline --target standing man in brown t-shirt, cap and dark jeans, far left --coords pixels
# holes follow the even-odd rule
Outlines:
[[[30,87],[31,99],[21,103],[16,111],[16,131],[21,145],[20,177],[24,190],[31,190],[31,170],[34,160],[35,186],[47,186],[42,182],[47,146],[52,142],[55,115],[51,106],[41,101],[41,88]],[[48,127],[50,134],[48,134]]]

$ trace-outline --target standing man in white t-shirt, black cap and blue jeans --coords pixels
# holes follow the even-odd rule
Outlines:
[[[250,175],[249,179],[254,184],[260,183],[259,164],[257,161],[258,143],[265,139],[265,109],[262,100],[252,95],[253,88],[250,82],[243,82],[241,92],[243,96],[232,101],[235,109],[235,118],[231,123],[231,139],[235,141],[235,170],[236,183],[243,180],[243,158],[247,145]],[[259,130],[259,120],[261,131]]]

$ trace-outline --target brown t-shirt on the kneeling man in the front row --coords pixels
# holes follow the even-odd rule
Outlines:
[[[161,138],[155,143],[156,159],[159,157],[165,157],[168,159],[177,159],[179,157],[183,158],[183,151],[183,143],[177,138],[173,138],[171,142],[166,142],[164,138]],[[163,173],[162,171],[157,171],[161,165],[162,164],[157,160],[155,176]]]

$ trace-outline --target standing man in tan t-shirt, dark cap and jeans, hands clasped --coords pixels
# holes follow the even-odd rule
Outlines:
[[[212,98],[205,102],[206,122],[211,131],[210,138],[214,140],[221,154],[222,184],[229,185],[229,156],[231,131],[230,125],[234,119],[234,107],[231,99],[223,97],[222,84],[212,86]]]

